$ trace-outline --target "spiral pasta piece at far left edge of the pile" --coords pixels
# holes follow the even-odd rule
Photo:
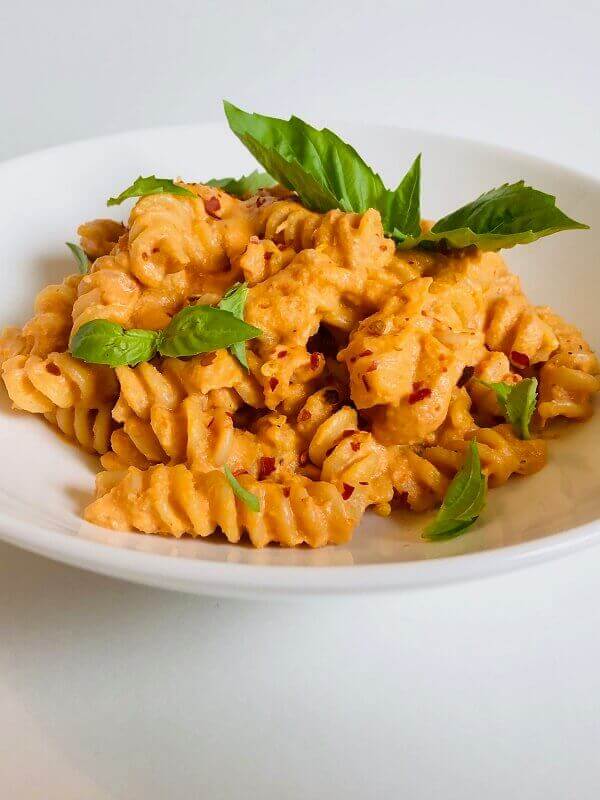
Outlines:
[[[13,356],[2,365],[2,378],[15,408],[46,414],[54,408],[98,408],[117,395],[109,367],[85,364],[69,353]]]

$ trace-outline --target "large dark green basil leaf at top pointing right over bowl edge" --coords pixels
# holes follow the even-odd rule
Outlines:
[[[588,227],[557,208],[553,195],[518,181],[485,192],[438,220],[429,233],[405,239],[400,246],[431,246],[443,241],[448,247],[476,245],[480,250],[500,250],[558,231]]]

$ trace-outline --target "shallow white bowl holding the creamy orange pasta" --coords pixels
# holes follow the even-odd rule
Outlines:
[[[600,219],[600,183],[490,145],[383,126],[336,129],[394,184],[423,153],[423,212],[435,217],[481,191],[526,178],[570,216]],[[74,270],[64,246],[77,225],[111,215],[104,200],[139,174],[208,179],[252,162],[224,125],[138,131],[46,150],[0,165],[0,324],[18,324],[35,293]],[[121,218],[127,209],[111,209]],[[600,227],[507,251],[534,302],[554,306],[600,345]],[[0,537],[60,561],[133,581],[223,595],[365,593],[480,577],[570,552],[600,539],[600,415],[549,444],[548,466],[488,496],[460,538],[420,540],[423,519],[367,513],[343,547],[252,550],[218,537],[176,541],[115,533],[82,522],[95,459],[1,393]]]

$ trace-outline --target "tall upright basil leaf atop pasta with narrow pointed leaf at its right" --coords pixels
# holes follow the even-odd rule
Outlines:
[[[400,238],[419,235],[418,158],[391,192],[356,150],[329,129],[317,130],[298,117],[283,120],[248,114],[227,101],[224,107],[238,139],[270,175],[295,191],[307,208],[358,213],[376,208],[387,234],[397,232]]]

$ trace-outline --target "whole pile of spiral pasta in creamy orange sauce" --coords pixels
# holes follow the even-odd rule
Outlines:
[[[240,199],[185,185],[193,197],[141,198],[126,226],[82,225],[88,274],[46,287],[0,339],[14,408],[100,456],[89,522],[342,543],[367,508],[438,506],[472,439],[499,486],[542,468],[551,420],[592,413],[594,354],[497,253],[398,251],[375,210],[318,214],[281,187]],[[227,350],[116,369],[69,353],[84,322],[159,330],[242,281],[244,318],[262,331],[248,370]],[[526,376],[539,380],[537,433],[521,440],[481,381]]]

